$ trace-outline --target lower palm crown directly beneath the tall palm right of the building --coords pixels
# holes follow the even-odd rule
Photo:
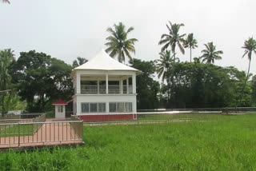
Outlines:
[[[172,63],[178,60],[178,58],[174,59],[174,55],[170,55],[170,50],[166,50],[160,53],[160,59],[156,60],[157,65],[157,74],[158,78],[162,77],[162,82],[166,79],[166,72],[170,69]]]

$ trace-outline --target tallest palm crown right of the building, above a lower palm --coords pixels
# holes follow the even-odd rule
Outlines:
[[[170,49],[174,54],[174,61],[175,61],[176,46],[179,47],[179,50],[181,50],[182,54],[185,54],[185,50],[182,46],[182,42],[184,41],[183,37],[186,34],[180,35],[178,33],[180,27],[184,26],[184,24],[176,24],[176,23],[172,24],[170,21],[169,21],[169,23],[170,23],[170,26],[168,26],[168,24],[166,24],[169,34],[162,34],[161,40],[158,42],[158,45],[164,45],[164,46],[162,46],[161,51],[166,50],[170,46]]]

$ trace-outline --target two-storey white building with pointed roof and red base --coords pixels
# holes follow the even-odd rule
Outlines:
[[[84,121],[136,119],[136,75],[140,71],[99,52],[75,68],[74,114]],[[106,116],[107,115],[107,116]]]

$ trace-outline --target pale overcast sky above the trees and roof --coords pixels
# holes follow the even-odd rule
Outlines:
[[[255,0],[10,0],[0,3],[0,49],[36,50],[71,64],[78,56],[90,59],[106,49],[106,28],[123,22],[134,26],[129,38],[137,38],[134,58],[159,58],[160,36],[167,33],[166,22],[184,23],[181,34],[194,33],[198,57],[203,44],[214,42],[223,50],[220,66],[247,70],[242,46],[250,36],[256,38]],[[182,61],[190,60],[189,50]],[[251,72],[256,74],[256,55]]]

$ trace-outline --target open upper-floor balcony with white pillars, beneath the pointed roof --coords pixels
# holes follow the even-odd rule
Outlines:
[[[106,73],[106,72],[105,72]],[[77,94],[134,94],[136,93],[136,74],[121,71],[103,71],[96,74],[86,74],[85,71],[75,75],[74,91]]]

